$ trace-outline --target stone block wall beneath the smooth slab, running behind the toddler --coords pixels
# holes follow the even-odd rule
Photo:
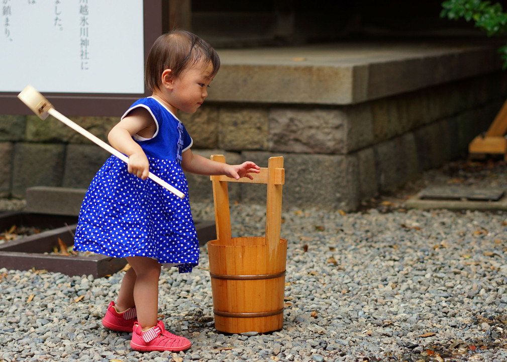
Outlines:
[[[267,167],[283,156],[283,203],[350,210],[421,171],[466,154],[505,96],[500,71],[349,105],[208,102],[181,115],[193,151]],[[70,117],[106,139],[118,118]],[[87,188],[107,152],[56,119],[0,116],[0,197],[31,186]],[[212,202],[209,177],[188,175],[191,200]],[[230,185],[232,201],[263,204],[265,186]]]

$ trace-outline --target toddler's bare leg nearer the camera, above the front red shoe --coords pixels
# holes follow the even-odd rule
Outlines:
[[[152,258],[127,257],[126,259],[136,275],[133,297],[137,308],[137,321],[143,330],[147,330],[157,325],[158,283],[161,267],[158,261]],[[128,292],[127,285],[129,284],[126,284],[125,292]]]

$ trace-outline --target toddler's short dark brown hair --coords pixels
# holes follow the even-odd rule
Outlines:
[[[220,58],[215,50],[197,35],[186,30],[172,30],[153,43],[144,71],[144,81],[152,92],[162,84],[162,73],[171,69],[172,77],[177,78],[188,66],[204,61],[211,62],[214,76],[220,68]]]

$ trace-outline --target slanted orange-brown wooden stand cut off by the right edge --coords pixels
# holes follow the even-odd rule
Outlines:
[[[505,133],[507,133],[507,101],[503,103],[500,112],[498,112],[486,133],[478,135],[468,145],[470,157],[500,154],[507,161],[507,139],[505,139]]]

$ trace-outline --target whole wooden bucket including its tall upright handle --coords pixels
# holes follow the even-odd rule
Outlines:
[[[214,161],[225,162],[222,155]],[[271,157],[253,180],[211,176],[216,240],[208,242],[215,328],[266,333],[282,328],[287,240],[280,238],[283,157]],[[265,237],[231,237],[228,182],[267,185]]]

